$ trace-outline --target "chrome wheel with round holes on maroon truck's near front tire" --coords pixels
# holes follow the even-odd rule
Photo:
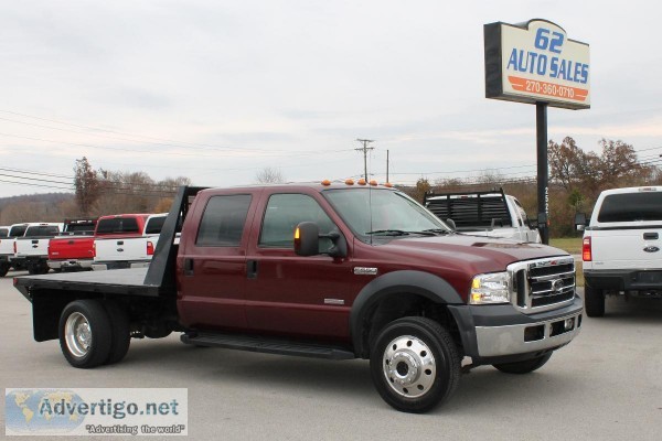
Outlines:
[[[393,340],[384,351],[383,361],[386,381],[403,397],[420,397],[435,383],[435,356],[425,342],[413,335]]]

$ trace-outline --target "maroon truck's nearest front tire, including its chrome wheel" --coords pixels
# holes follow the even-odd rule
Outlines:
[[[450,398],[460,380],[460,356],[439,323],[398,319],[378,334],[371,351],[375,388],[393,408],[423,413]]]

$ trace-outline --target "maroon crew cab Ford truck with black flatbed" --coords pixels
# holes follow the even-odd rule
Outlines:
[[[457,235],[363,181],[182,187],[149,268],[14,286],[32,302],[34,338],[60,338],[75,367],[119,362],[130,336],[177,331],[199,346],[370,359],[380,395],[408,412],[450,398],[465,356],[540,368],[583,313],[566,252]]]

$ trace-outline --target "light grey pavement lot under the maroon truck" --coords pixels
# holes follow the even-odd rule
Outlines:
[[[490,366],[477,368],[462,376],[448,404],[417,416],[382,401],[367,362],[195,348],[180,343],[178,335],[135,340],[122,363],[75,369],[65,362],[58,342],[33,341],[30,303],[12,287],[14,275],[0,279],[3,388],[188,388],[191,439],[662,437],[660,300],[609,299],[607,315],[585,318],[580,335],[542,369],[513,376]],[[1,407],[4,427],[4,401]]]

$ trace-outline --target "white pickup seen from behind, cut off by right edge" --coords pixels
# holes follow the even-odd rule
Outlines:
[[[584,229],[586,314],[605,315],[606,295],[662,298],[662,186],[600,193]]]

